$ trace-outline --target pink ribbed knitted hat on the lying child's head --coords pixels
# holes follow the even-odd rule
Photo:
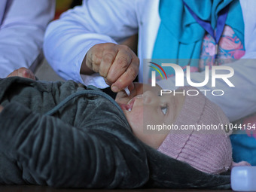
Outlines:
[[[187,90],[196,90],[194,87],[182,89],[185,93]],[[170,130],[158,151],[202,172],[225,172],[233,162],[229,138],[232,131],[228,129],[230,122],[221,108],[198,92],[197,96],[186,96],[174,125],[179,129],[181,126],[205,126],[205,130]]]

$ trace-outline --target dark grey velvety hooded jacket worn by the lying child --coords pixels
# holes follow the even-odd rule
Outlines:
[[[0,184],[86,188],[229,188],[133,136],[101,90],[74,81],[0,79]]]

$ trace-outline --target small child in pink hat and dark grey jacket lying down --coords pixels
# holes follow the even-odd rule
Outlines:
[[[202,94],[157,96],[136,84],[130,96],[117,93],[115,102],[95,87],[34,81],[28,69],[19,70],[9,76],[27,78],[0,80],[1,184],[230,187],[229,175],[217,175],[234,165],[230,133],[142,131],[143,118],[179,126],[228,124]]]

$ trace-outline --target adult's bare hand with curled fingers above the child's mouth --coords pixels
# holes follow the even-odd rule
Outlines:
[[[81,74],[99,72],[113,92],[130,86],[139,73],[139,58],[126,45],[96,44],[88,50],[81,67]]]

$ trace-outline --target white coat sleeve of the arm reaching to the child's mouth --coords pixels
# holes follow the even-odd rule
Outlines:
[[[120,43],[138,31],[136,1],[86,0],[47,27],[44,55],[62,78],[106,87],[99,75],[80,75],[85,54],[95,44]]]

